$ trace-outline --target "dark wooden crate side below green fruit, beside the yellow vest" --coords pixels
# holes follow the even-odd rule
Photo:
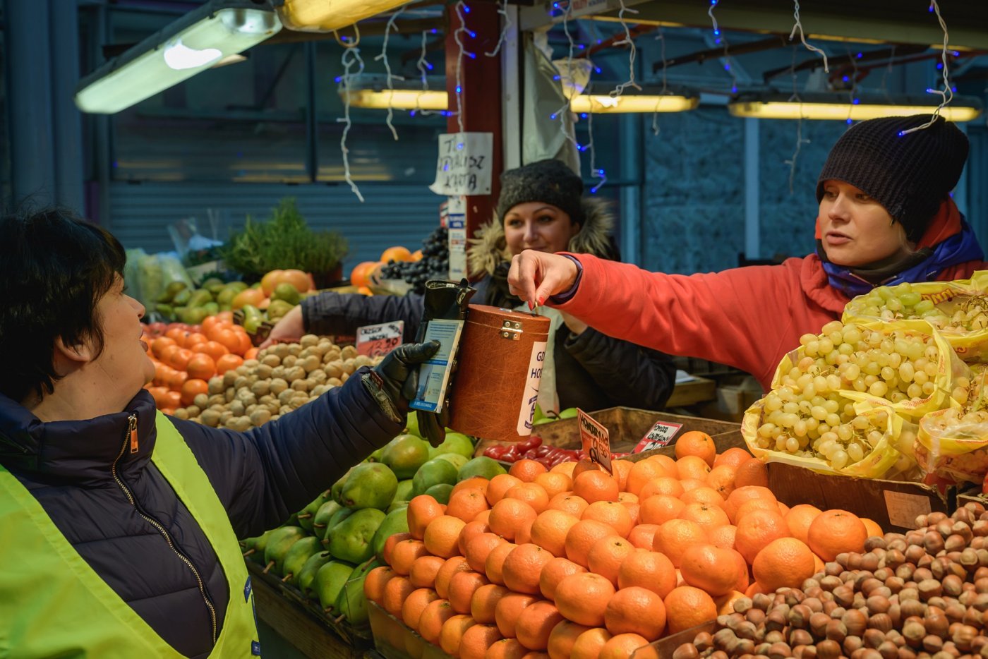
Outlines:
[[[257,617],[312,659],[362,659],[371,648],[371,627],[328,618],[319,605],[247,561]]]

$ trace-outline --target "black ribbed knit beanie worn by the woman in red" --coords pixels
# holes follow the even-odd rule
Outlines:
[[[823,198],[824,181],[850,183],[901,222],[908,240],[918,242],[957,185],[967,160],[967,135],[943,118],[902,134],[931,118],[883,117],[852,126],[827,156],[816,201]]]

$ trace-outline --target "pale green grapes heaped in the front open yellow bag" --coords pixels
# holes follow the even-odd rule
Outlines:
[[[936,390],[940,351],[929,335],[835,320],[799,343],[795,364],[765,396],[756,440],[762,449],[819,457],[842,469],[878,445],[888,416],[859,415],[840,391],[866,391],[895,403]]]

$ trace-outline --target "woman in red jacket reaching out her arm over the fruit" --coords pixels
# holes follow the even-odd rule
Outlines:
[[[851,297],[985,267],[949,197],[967,137],[942,118],[906,132],[931,120],[870,120],[837,141],[817,183],[815,254],[684,276],[526,251],[514,257],[509,285],[530,305],[548,302],[619,339],[748,371],[767,389],[799,337],[839,319]]]

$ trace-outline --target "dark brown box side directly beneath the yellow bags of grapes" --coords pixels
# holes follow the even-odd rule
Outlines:
[[[782,462],[769,462],[768,467],[769,489],[786,506],[840,508],[873,520],[885,531],[910,531],[919,515],[949,515],[957,506],[952,486],[941,492],[922,483],[818,473]]]

